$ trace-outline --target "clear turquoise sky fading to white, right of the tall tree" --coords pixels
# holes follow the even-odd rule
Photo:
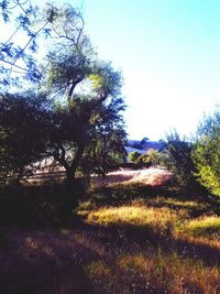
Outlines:
[[[55,2],[65,2],[57,0]],[[129,137],[190,134],[220,101],[219,0],[75,0],[101,58],[124,77]]]

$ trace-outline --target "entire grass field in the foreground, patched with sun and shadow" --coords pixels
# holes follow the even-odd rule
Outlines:
[[[69,214],[63,190],[1,194],[0,293],[220,293],[215,199],[120,184]]]

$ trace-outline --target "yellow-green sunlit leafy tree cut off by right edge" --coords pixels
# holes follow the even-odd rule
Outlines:
[[[198,126],[193,150],[198,182],[220,196],[220,111],[205,117]]]

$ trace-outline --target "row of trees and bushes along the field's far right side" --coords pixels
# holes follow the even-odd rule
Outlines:
[[[133,151],[129,160],[139,167],[161,165],[168,168],[182,187],[195,188],[198,184],[220,196],[220,110],[205,116],[191,139],[180,138],[170,131],[164,141],[163,152],[148,150],[144,154]]]

